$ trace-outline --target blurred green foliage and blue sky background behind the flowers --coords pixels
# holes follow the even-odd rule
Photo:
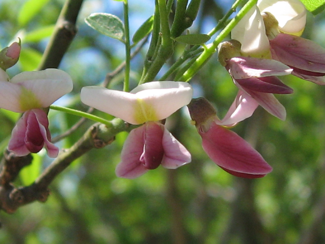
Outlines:
[[[0,45],[17,37],[22,52],[10,76],[35,70],[48,43],[63,0],[42,0],[37,14],[21,14],[23,0],[0,0]],[[232,1],[202,0],[191,33],[207,33]],[[153,14],[154,1],[129,0],[131,35]],[[95,32],[84,22],[91,13],[111,13],[123,19],[123,4],[112,0],[85,0],[78,19],[78,34],[64,56],[60,69],[74,81],[70,95],[58,105],[83,111],[80,89],[103,82],[124,60],[124,46]],[[324,15],[308,15],[304,38],[325,47]],[[143,50],[131,62],[131,86],[140,79]],[[170,66],[184,46],[178,44]],[[178,51],[179,50],[179,51]],[[166,70],[165,70],[166,71]],[[159,76],[164,74],[164,69]],[[14,214],[0,213],[0,243],[325,243],[325,87],[292,75],[281,77],[295,93],[277,96],[286,107],[281,121],[258,108],[233,130],[250,142],[273,167],[260,179],[232,176],[204,153],[201,137],[190,124],[187,109],[172,115],[167,124],[192,154],[192,162],[177,170],[159,167],[130,180],[117,178],[115,166],[127,133],[102,149],[92,149],[64,170],[50,187],[46,203],[34,202]],[[110,88],[120,89],[123,74]],[[237,87],[215,54],[190,81],[194,96],[204,96],[222,118]],[[100,111],[94,114],[110,119]],[[0,110],[0,149],[4,151],[19,114]],[[55,137],[68,130],[78,117],[50,111],[50,130]],[[68,138],[58,142],[69,148],[92,125],[87,121]],[[41,151],[24,168],[16,186],[28,186],[51,162]]]

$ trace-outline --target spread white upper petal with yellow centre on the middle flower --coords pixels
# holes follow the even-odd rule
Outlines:
[[[146,121],[167,118],[187,105],[192,93],[191,86],[185,82],[163,81],[143,84],[132,90],[132,93],[86,86],[82,88],[80,97],[88,106],[121,118],[127,123],[139,125]]]

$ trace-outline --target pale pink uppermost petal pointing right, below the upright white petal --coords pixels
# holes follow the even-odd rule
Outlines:
[[[273,59],[255,57],[233,57],[227,62],[229,73],[235,79],[288,75],[292,69]]]

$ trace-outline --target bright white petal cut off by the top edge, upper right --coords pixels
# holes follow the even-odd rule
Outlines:
[[[299,0],[259,0],[257,7],[259,11],[269,12],[277,19],[280,31],[297,36],[304,31],[307,11]]]

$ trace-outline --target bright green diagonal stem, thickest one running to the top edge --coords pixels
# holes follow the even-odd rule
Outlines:
[[[239,11],[237,16],[233,18],[228,25],[221,31],[216,37],[213,43],[207,45],[205,50],[197,58],[191,67],[179,78],[181,81],[189,81],[208,61],[208,59],[215,53],[219,43],[232,31],[232,29],[238,24],[238,22],[244,17],[244,15],[256,4],[257,0],[249,0],[247,4]]]

